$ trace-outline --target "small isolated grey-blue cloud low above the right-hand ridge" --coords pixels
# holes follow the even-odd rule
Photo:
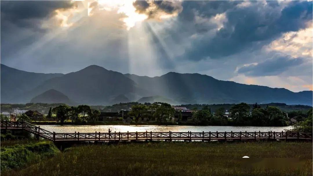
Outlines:
[[[285,72],[290,67],[298,66],[303,61],[303,58],[275,55],[261,63],[244,65],[237,72],[246,76],[273,76]]]

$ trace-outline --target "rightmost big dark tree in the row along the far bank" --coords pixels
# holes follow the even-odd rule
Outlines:
[[[273,126],[286,126],[285,116],[283,112],[274,106],[269,106],[266,108],[266,112],[269,119],[269,125]]]

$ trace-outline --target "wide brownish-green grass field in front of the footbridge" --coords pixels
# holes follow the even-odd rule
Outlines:
[[[243,156],[248,158],[242,158]],[[302,158],[299,166],[246,166],[252,158]],[[250,163],[250,162],[248,162]],[[312,175],[310,142],[80,145],[3,175]]]

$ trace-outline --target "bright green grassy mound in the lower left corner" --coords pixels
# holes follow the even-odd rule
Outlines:
[[[59,149],[51,141],[8,140],[1,142],[0,165],[5,174],[11,169],[23,168],[32,163],[38,163],[45,158],[55,156]]]

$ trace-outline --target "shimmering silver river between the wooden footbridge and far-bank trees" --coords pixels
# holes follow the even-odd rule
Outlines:
[[[285,129],[290,129],[291,126],[287,127],[255,127],[255,126],[180,126],[180,125],[40,125],[40,128],[44,128],[50,132],[55,133],[95,133],[108,132],[109,128],[112,132],[144,132],[144,131],[153,131],[153,132],[254,132],[254,131],[276,131],[281,132]]]

